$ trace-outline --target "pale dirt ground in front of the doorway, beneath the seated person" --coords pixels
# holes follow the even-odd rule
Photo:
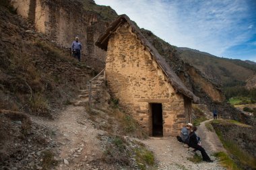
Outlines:
[[[193,149],[183,146],[175,137],[150,138],[148,140],[142,140],[141,142],[146,144],[156,155],[158,169],[224,169],[214,157],[211,157],[214,163],[193,163],[187,160],[188,157],[193,157]],[[197,151],[197,154],[200,155],[199,151]]]

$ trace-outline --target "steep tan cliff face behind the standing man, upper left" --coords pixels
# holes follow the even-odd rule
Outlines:
[[[20,15],[31,20],[38,32],[48,35],[62,46],[71,46],[75,36],[79,36],[83,45],[82,54],[85,56],[82,60],[104,61],[104,50],[94,46],[94,43],[111,19],[104,19],[100,11],[87,9],[88,6],[96,6],[94,1],[11,0],[11,4]],[[102,10],[117,15],[108,7]],[[104,66],[101,64],[96,67]]]

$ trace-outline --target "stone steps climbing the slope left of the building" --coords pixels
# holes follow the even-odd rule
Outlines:
[[[91,83],[92,106],[106,103],[110,95],[106,92],[106,81],[104,75],[99,75],[98,77],[96,77],[96,79],[93,79]],[[86,87],[88,87],[88,89],[80,89],[79,95],[77,95],[77,97],[73,101],[71,101],[73,105],[89,106],[90,82],[87,83]]]

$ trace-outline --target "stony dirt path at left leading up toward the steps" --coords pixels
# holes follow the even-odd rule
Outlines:
[[[84,107],[69,105],[57,120],[38,117],[32,120],[55,132],[53,140],[59,144],[58,159],[61,162],[57,169],[97,169],[98,165],[91,161],[101,157],[100,140],[96,136],[104,132],[94,128]]]

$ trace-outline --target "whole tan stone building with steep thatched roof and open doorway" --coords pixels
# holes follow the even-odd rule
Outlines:
[[[192,121],[199,100],[183,85],[127,15],[98,38],[106,50],[106,81],[112,95],[150,136],[175,136]]]

